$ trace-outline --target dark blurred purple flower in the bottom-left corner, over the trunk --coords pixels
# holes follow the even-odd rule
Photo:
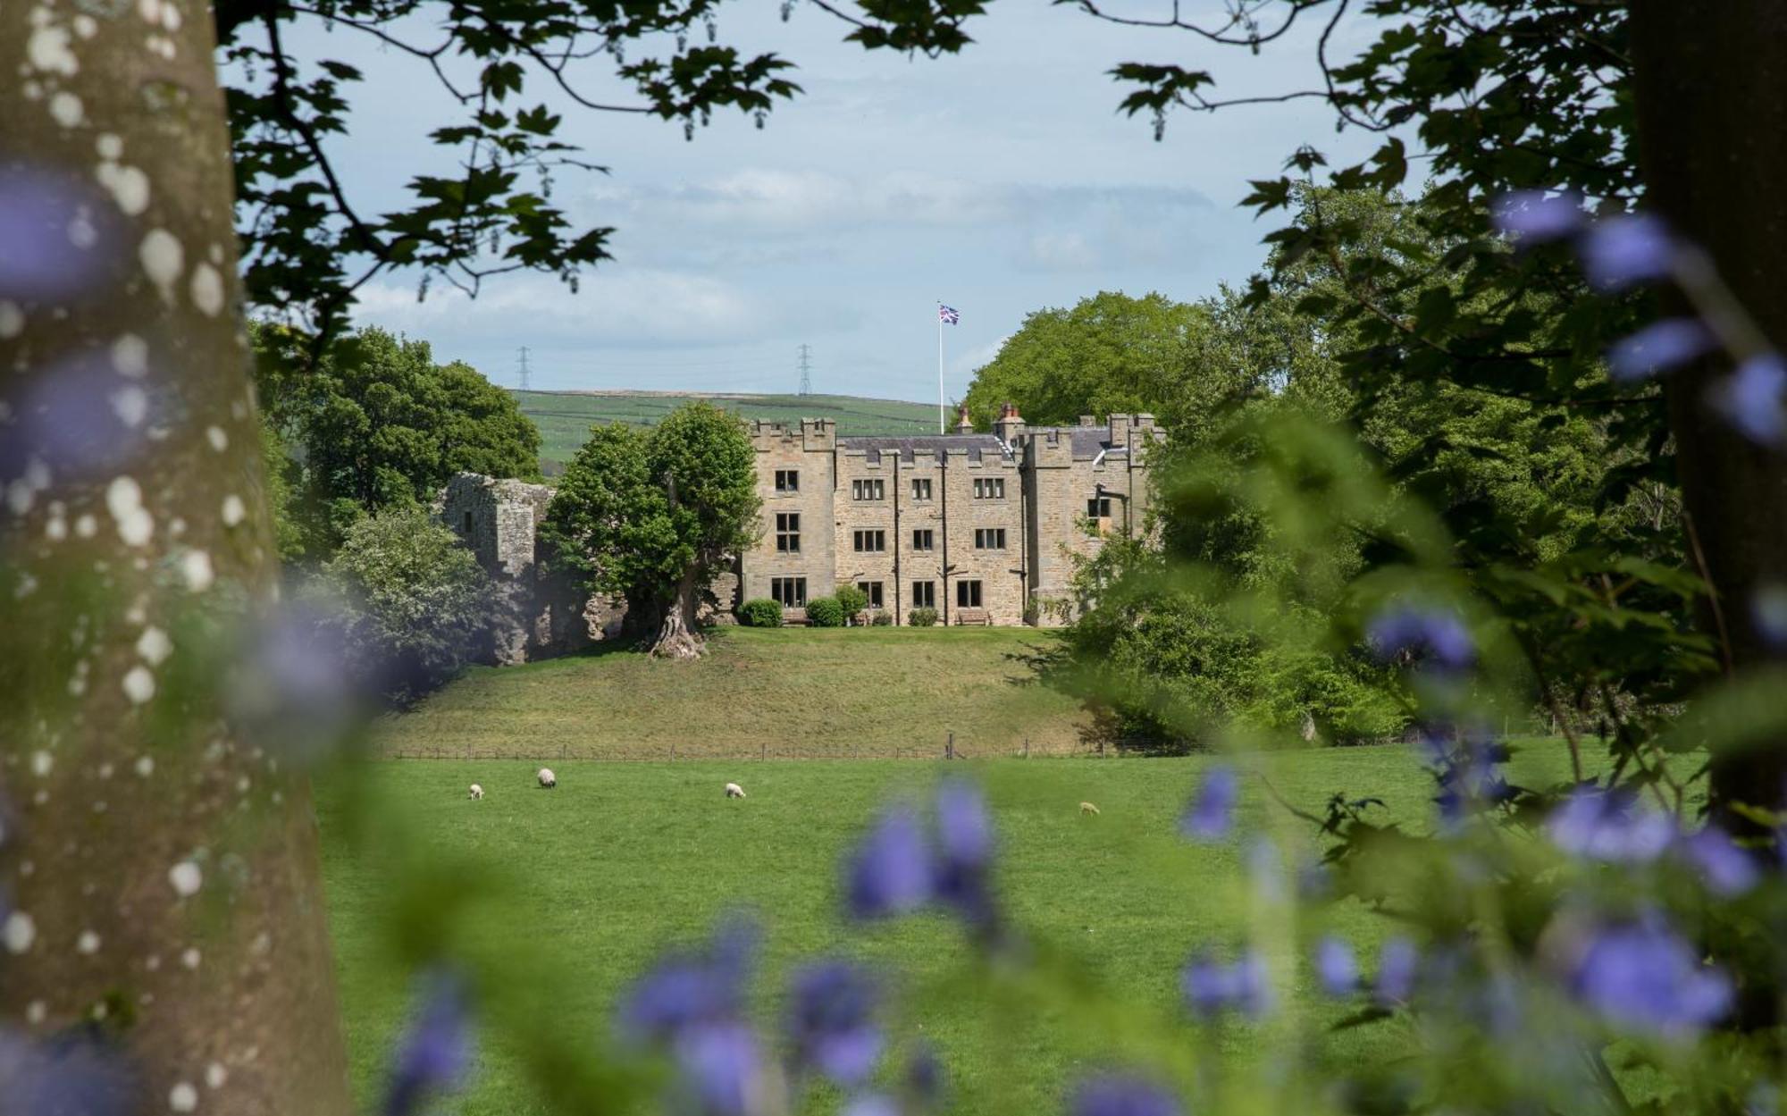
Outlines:
[[[45,1116],[130,1116],[139,1075],[98,1028],[54,1039],[0,1028],[0,1105]]]

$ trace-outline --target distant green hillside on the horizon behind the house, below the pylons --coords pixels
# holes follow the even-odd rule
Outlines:
[[[745,418],[799,422],[835,418],[838,433],[935,435],[935,402],[860,395],[743,395],[738,392],[516,392],[522,413],[540,427],[540,461],[556,474],[599,422],[652,426],[690,399],[706,399]]]

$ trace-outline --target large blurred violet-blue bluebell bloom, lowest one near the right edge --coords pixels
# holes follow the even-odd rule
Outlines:
[[[1660,917],[1603,928],[1581,951],[1571,989],[1624,1030],[1680,1039],[1732,1005],[1732,984]]]

